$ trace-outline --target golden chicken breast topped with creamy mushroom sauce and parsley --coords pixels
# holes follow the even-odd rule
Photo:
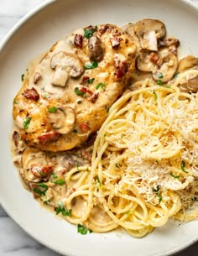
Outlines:
[[[13,101],[23,141],[39,149],[73,149],[107,118],[134,69],[133,39],[112,24],[78,29],[27,68]]]

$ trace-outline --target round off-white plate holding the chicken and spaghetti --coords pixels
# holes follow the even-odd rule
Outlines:
[[[178,0],[50,1],[23,18],[0,49],[0,202],[26,232],[65,255],[169,255],[198,239],[198,222],[180,226],[170,222],[140,239],[120,232],[82,236],[77,233],[76,226],[39,207],[32,195],[23,189],[10,156],[12,102],[29,60],[49,49],[56,40],[70,34],[73,29],[90,24],[122,25],[140,18],[163,20],[168,34],[180,39],[182,54],[198,55],[198,9]]]

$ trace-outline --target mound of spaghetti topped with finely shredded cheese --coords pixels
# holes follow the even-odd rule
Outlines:
[[[91,168],[67,175],[76,191],[65,205],[82,202],[81,213],[67,218],[95,232],[123,227],[138,238],[169,217],[198,218],[197,208],[185,210],[198,196],[198,96],[149,79],[139,84],[111,107]]]

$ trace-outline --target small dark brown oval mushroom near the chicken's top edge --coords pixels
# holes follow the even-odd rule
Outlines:
[[[104,56],[102,40],[93,35],[88,41],[90,60],[100,61]]]

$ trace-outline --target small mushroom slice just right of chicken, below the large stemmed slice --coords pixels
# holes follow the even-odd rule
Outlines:
[[[150,54],[148,50],[140,50],[136,59],[136,65],[139,71],[154,71],[154,61],[150,59]]]

